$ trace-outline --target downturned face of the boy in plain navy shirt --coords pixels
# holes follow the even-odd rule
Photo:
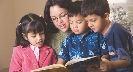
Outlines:
[[[92,14],[85,17],[85,20],[94,32],[101,32],[105,28],[105,18]]]

